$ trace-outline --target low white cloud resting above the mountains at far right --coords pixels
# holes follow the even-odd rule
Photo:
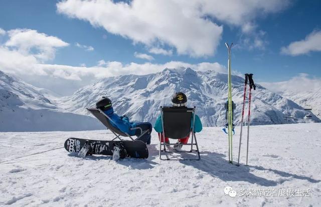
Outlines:
[[[321,87],[321,78],[309,77],[306,73],[300,73],[289,80],[281,82],[261,82],[262,86],[277,93],[300,93],[315,91]]]

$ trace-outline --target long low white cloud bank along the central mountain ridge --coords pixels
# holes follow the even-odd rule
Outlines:
[[[46,81],[39,81],[44,76],[38,76],[35,81],[35,77],[29,78],[29,82],[38,87],[48,88],[57,93],[70,95],[80,87],[92,84],[101,78],[136,74],[145,75],[155,73],[164,70],[165,68],[182,68],[190,67],[194,70],[208,70],[211,69],[216,72],[226,73],[227,70],[219,63],[199,63],[190,64],[185,62],[171,61],[165,64],[152,64],[152,63],[129,63],[122,64],[116,61],[105,62],[104,67],[74,67],[68,65],[49,65],[38,64],[35,66],[36,70],[46,73]],[[36,74],[36,73],[35,73]],[[30,75],[30,74],[29,74]],[[35,76],[35,75],[34,75]],[[27,79],[27,75],[24,75],[24,79]],[[60,83],[60,84],[59,84]],[[68,85],[68,88],[62,87]]]

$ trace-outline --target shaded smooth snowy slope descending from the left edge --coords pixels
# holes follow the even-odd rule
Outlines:
[[[41,90],[0,71],[0,131],[102,129],[91,117],[57,108]]]

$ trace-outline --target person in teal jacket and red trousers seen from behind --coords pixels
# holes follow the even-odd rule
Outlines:
[[[183,92],[176,92],[172,97],[172,104],[173,104],[174,108],[177,108],[177,107],[178,108],[187,108],[186,107],[187,96]],[[192,127],[193,126],[192,126],[192,123],[191,123],[191,128]],[[199,116],[195,115],[194,131],[195,132],[201,132],[202,129],[203,129],[202,122],[201,122]],[[162,135],[163,128],[162,128],[162,117],[161,117],[161,115],[158,116],[158,118],[156,119],[154,130],[156,132],[158,132],[158,138],[161,139],[161,142],[164,142],[163,135]],[[187,144],[187,142],[189,141],[189,138],[190,138],[190,135],[188,135],[187,137],[182,137],[181,139],[179,139],[177,141],[178,145],[174,145],[174,149],[181,150],[182,149],[182,145],[180,145],[180,144]],[[165,143],[166,144],[170,144],[170,140],[169,140],[168,137],[165,137]]]

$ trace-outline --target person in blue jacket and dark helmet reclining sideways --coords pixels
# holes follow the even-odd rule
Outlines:
[[[125,115],[118,116],[114,113],[112,108],[111,100],[107,97],[103,97],[97,102],[97,108],[101,109],[111,120],[110,124],[122,131],[123,133],[128,133],[130,136],[139,136],[140,130],[130,130],[131,128],[140,127],[142,131],[148,130],[147,133],[139,137],[137,140],[143,141],[147,145],[150,144],[150,133],[152,126],[148,122],[130,122],[129,118]]]

